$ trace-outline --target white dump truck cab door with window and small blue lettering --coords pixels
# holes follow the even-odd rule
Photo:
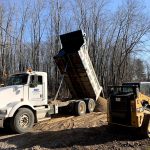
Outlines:
[[[43,100],[43,77],[40,75],[30,76],[29,100],[31,101]]]

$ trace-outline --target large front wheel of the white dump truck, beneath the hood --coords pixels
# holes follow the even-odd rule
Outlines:
[[[20,108],[12,119],[12,130],[17,133],[28,132],[34,124],[34,114],[30,109]]]

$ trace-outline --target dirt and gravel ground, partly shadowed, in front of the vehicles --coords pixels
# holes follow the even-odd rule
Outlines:
[[[131,128],[109,127],[106,114],[94,112],[78,117],[57,115],[21,135],[1,129],[0,149],[150,150],[150,139],[142,139]]]

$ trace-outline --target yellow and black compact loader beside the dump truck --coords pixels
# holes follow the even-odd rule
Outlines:
[[[148,118],[144,133],[150,136],[150,82],[123,83],[109,87],[108,123],[142,128]],[[148,116],[148,117],[147,117]]]

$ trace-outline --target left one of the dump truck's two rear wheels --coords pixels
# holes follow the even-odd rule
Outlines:
[[[86,104],[84,101],[78,101],[75,103],[75,113],[78,116],[82,116],[86,113]]]

